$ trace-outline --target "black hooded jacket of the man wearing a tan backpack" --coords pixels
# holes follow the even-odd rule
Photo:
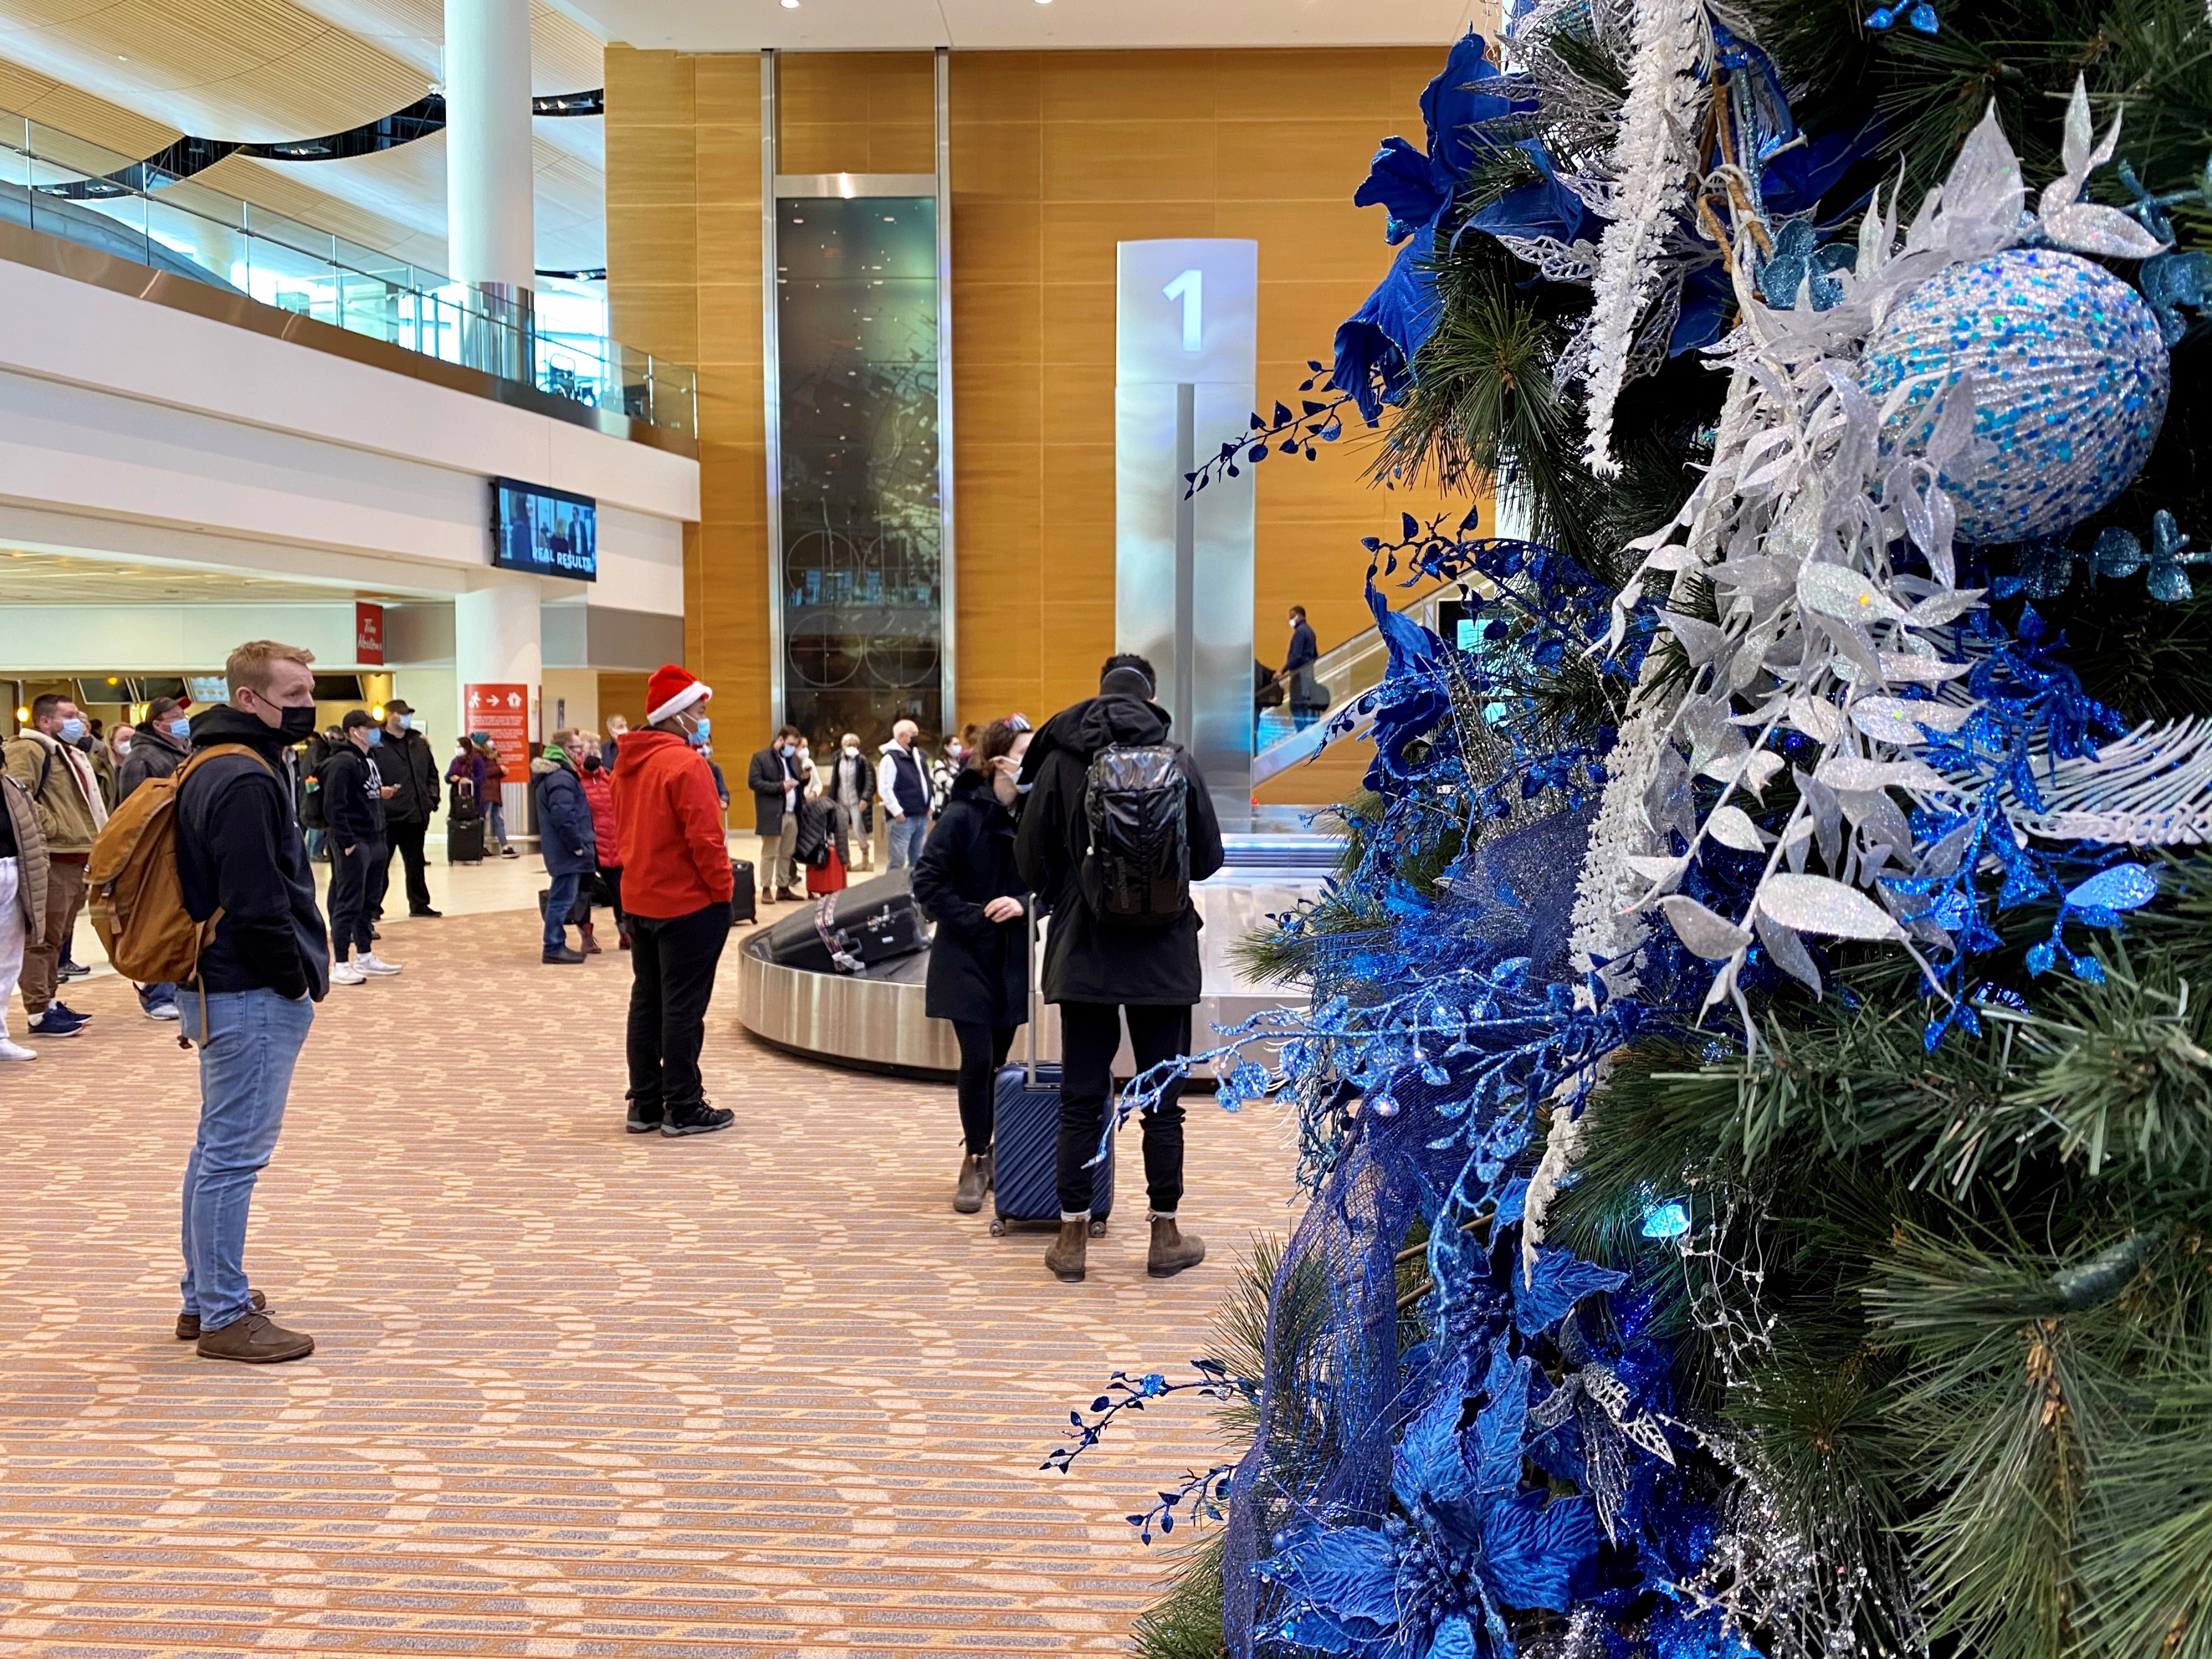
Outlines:
[[[192,717],[192,748],[243,743],[208,761],[177,796],[177,876],[184,907],[223,920],[199,953],[204,991],[276,991],[316,1002],[330,989],[330,936],[314,907],[307,845],[292,814],[292,757],[283,737],[228,703]]]

